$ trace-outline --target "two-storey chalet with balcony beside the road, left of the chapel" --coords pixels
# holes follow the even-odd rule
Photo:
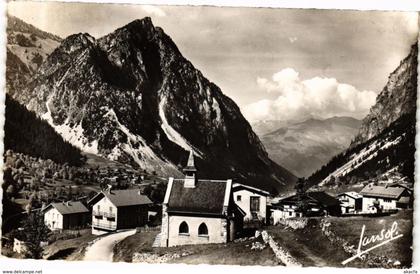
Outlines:
[[[119,229],[144,226],[152,201],[139,189],[107,190],[89,202],[92,205],[92,234],[101,235]]]

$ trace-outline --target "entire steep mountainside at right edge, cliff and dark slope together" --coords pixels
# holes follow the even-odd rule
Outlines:
[[[415,44],[391,73],[351,146],[312,174],[311,184],[383,180],[390,174],[414,182],[417,55]]]

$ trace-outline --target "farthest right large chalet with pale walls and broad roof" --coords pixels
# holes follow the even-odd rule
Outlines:
[[[369,184],[359,194],[363,196],[363,212],[377,213],[412,206],[412,195],[404,187]]]

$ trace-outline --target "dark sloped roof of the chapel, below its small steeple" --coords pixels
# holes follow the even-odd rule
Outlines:
[[[223,214],[227,186],[228,181],[197,180],[194,188],[186,188],[183,179],[173,180],[167,211]]]

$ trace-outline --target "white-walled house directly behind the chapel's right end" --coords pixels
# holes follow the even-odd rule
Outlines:
[[[267,191],[235,183],[232,187],[235,203],[245,212],[244,221],[267,220]]]

